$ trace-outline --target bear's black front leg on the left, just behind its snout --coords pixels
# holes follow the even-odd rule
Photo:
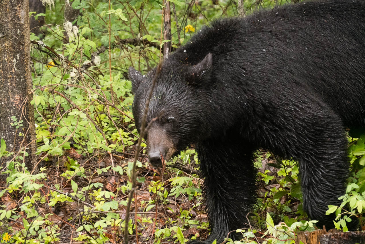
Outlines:
[[[248,147],[237,134],[197,144],[211,234],[189,244],[221,243],[228,232],[247,223],[246,215],[256,203],[256,169]]]

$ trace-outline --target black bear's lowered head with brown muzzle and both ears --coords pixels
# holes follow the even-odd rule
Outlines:
[[[145,134],[149,161],[155,167],[162,159],[169,160],[204,135],[203,92],[210,81],[212,55],[209,53],[199,63],[184,64],[170,56],[161,67],[146,116]],[[146,75],[130,67],[128,75],[134,93],[133,116],[138,131],[141,128],[146,101],[152,88],[157,68]]]

